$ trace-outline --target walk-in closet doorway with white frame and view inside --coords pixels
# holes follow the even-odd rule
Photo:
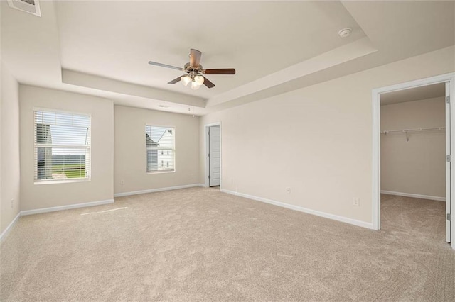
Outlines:
[[[451,242],[453,76],[373,91],[373,228]]]

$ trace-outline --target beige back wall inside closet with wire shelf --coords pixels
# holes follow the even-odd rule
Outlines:
[[[381,106],[381,131],[445,127],[444,97]],[[381,190],[446,196],[445,131],[381,135]]]

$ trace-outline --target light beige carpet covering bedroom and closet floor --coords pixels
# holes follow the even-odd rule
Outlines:
[[[373,231],[193,188],[24,216],[0,300],[455,301],[444,203],[383,196],[382,213]]]

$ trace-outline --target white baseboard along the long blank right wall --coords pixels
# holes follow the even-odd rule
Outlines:
[[[355,220],[355,219],[352,219],[352,218],[347,218],[347,217],[343,217],[343,216],[338,216],[338,215],[333,215],[333,214],[329,214],[329,213],[324,213],[324,212],[321,212],[321,211],[315,211],[315,210],[311,210],[310,208],[303,208],[301,206],[294,206],[294,205],[291,205],[289,203],[282,203],[280,201],[273,201],[272,199],[252,196],[252,195],[243,194],[243,193],[230,191],[230,190],[226,190],[226,189],[221,189],[220,191],[222,191],[224,193],[236,195],[236,196],[249,198],[249,199],[252,199],[252,200],[255,200],[255,201],[262,201],[264,203],[270,203],[270,204],[273,204],[275,206],[281,206],[283,208],[289,208],[289,209],[294,210],[294,211],[300,211],[300,212],[304,212],[304,213],[307,213],[307,214],[321,216],[323,218],[337,220],[337,221],[341,221],[342,223],[349,223],[351,225],[357,225],[357,226],[360,226],[362,228],[369,228],[369,229],[373,230],[373,224],[372,223],[365,223],[365,221],[360,221],[360,220]]]

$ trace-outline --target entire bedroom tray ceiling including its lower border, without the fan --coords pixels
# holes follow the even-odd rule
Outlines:
[[[19,82],[198,115],[454,45],[453,1],[40,3],[41,18],[0,4],[1,59]],[[190,48],[237,74],[193,91],[147,64],[183,67]]]

